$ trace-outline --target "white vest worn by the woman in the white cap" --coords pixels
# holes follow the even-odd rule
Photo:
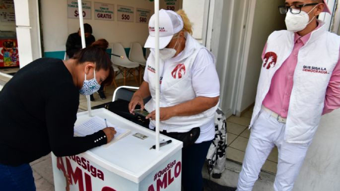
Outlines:
[[[178,62],[171,63],[170,69],[163,71],[164,62],[159,59],[159,74],[162,76],[160,86],[159,107],[170,107],[180,103],[184,103],[196,98],[196,93],[192,86],[191,67],[194,64],[196,56],[204,46],[199,44],[193,37],[186,34],[185,49],[179,55]],[[208,51],[209,52],[209,51]],[[210,53],[210,52],[209,52]],[[210,53],[214,60],[214,56]],[[147,72],[149,83],[149,90],[151,99],[145,104],[145,109],[148,112],[155,110],[155,58],[154,52],[151,51],[147,59],[145,72]],[[168,64],[168,63],[167,63]],[[175,69],[176,68],[176,69]],[[215,111],[218,104],[200,114],[192,116],[176,116],[159,123],[160,130],[166,129],[167,132],[187,132],[194,127],[201,127],[207,124],[214,118]],[[150,121],[151,125],[155,127],[155,121]]]

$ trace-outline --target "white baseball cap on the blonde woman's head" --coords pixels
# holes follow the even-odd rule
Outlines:
[[[155,14],[149,20],[149,36],[144,48],[155,48]],[[174,34],[183,29],[182,17],[172,10],[159,10],[159,49],[165,48]]]

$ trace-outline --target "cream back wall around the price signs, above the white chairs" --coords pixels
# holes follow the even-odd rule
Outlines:
[[[91,1],[92,19],[84,19],[93,29],[96,39],[105,38],[109,43],[121,42],[130,47],[131,42],[145,43],[148,36],[147,23],[117,21],[117,4],[150,9],[153,14],[154,4],[149,0],[89,0]],[[115,5],[115,20],[95,20],[94,2]],[[79,20],[68,18],[67,0],[41,0],[44,52],[65,51],[68,35],[77,32]],[[136,10],[135,10],[136,16]]]

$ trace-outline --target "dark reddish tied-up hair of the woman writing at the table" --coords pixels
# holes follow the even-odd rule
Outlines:
[[[81,49],[74,54],[72,59],[77,60],[77,64],[91,62],[95,64],[95,70],[109,70],[108,77],[102,82],[103,84],[111,84],[113,80],[113,67],[110,56],[106,53],[108,42],[105,39],[99,39],[92,43],[89,47]]]

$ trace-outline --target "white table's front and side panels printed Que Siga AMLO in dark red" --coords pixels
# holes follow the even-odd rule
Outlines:
[[[68,157],[56,157],[52,154],[52,166],[55,191],[181,190],[181,150],[170,156],[139,183],[109,171],[82,154]]]

